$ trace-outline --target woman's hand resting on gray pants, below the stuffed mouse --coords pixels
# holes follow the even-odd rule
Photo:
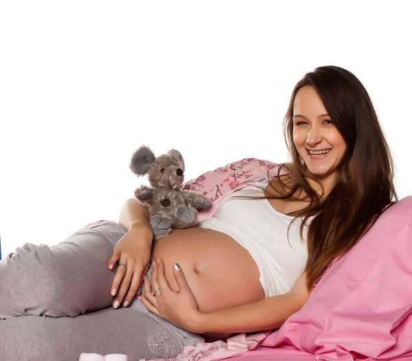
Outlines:
[[[113,249],[108,269],[115,269],[115,264],[119,262],[110,290],[111,295],[115,296],[113,307],[117,308],[122,303],[126,307],[136,294],[140,294],[140,286],[149,266],[152,238],[152,229],[133,224]]]

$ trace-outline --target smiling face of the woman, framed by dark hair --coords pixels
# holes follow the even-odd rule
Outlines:
[[[318,176],[337,170],[345,154],[345,140],[312,86],[299,89],[293,102],[293,143],[308,170]]]

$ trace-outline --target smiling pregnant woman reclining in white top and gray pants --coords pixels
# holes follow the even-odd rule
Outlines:
[[[0,359],[170,358],[280,327],[396,201],[387,142],[350,71],[304,75],[284,132],[290,163],[244,159],[186,184],[213,201],[192,229],[152,242],[147,209],[130,199],[118,223],[5,257]]]

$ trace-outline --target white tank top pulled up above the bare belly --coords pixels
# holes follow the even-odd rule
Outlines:
[[[252,184],[266,189],[268,180]],[[260,283],[266,297],[284,294],[305,270],[308,226],[304,227],[302,241],[299,234],[301,219],[295,220],[290,226],[288,242],[292,216],[273,209],[267,199],[237,198],[262,196],[262,189],[253,185],[227,196],[214,216],[198,222],[198,226],[225,233],[249,251],[259,268]]]

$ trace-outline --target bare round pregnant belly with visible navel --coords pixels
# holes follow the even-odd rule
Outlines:
[[[233,238],[210,229],[176,229],[153,246],[153,259],[162,259],[165,277],[173,290],[178,263],[198,307],[212,312],[264,299],[255,261]]]

